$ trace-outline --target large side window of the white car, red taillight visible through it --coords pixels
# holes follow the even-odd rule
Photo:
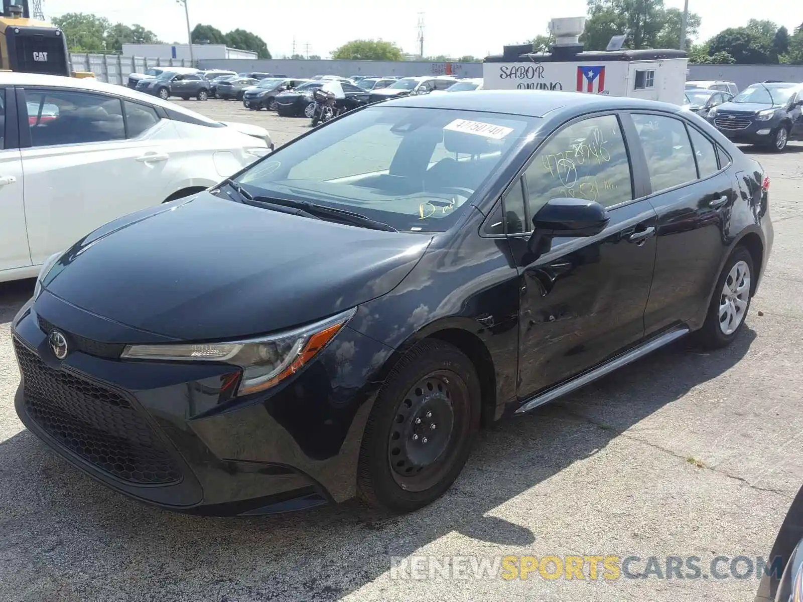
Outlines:
[[[87,92],[26,89],[32,146],[124,140],[119,98]]]

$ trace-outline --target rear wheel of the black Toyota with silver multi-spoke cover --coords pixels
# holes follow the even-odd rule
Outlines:
[[[737,246],[725,262],[716,282],[711,305],[703,327],[696,333],[705,348],[727,347],[744,326],[750,309],[752,282],[755,278],[752,255],[744,246]]]

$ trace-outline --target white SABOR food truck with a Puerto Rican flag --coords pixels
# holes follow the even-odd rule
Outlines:
[[[532,44],[506,46],[483,60],[486,90],[561,90],[632,96],[683,104],[687,54],[679,50],[622,50],[614,36],[606,51],[585,51],[580,36],[585,17],[553,18],[550,51]]]

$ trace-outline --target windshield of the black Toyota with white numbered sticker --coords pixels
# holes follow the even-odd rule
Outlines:
[[[538,121],[376,106],[287,144],[237,180],[255,197],[346,209],[399,231],[441,232]]]

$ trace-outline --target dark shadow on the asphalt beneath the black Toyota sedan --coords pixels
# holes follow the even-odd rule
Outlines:
[[[0,289],[0,323],[10,321],[31,289],[31,281]],[[388,571],[391,557],[453,532],[495,547],[531,545],[539,534],[492,515],[497,506],[597,454],[630,426],[728,371],[755,338],[745,327],[730,348],[702,356],[680,340],[552,405],[493,425],[480,433],[446,495],[410,515],[387,515],[358,501],[291,515],[180,515],[93,482],[22,430],[0,441],[0,488],[6,491],[0,515],[14,516],[4,524],[6,539],[27,542],[26,557],[36,565],[50,562],[54,545],[65,548],[72,565],[63,579],[76,588],[86,585],[81,575],[113,574],[119,564],[128,567],[131,582],[169,578],[192,587],[214,583],[226,592],[222,582],[238,600],[262,600],[266,588],[275,599],[339,598]],[[6,407],[10,401],[2,400]]]

